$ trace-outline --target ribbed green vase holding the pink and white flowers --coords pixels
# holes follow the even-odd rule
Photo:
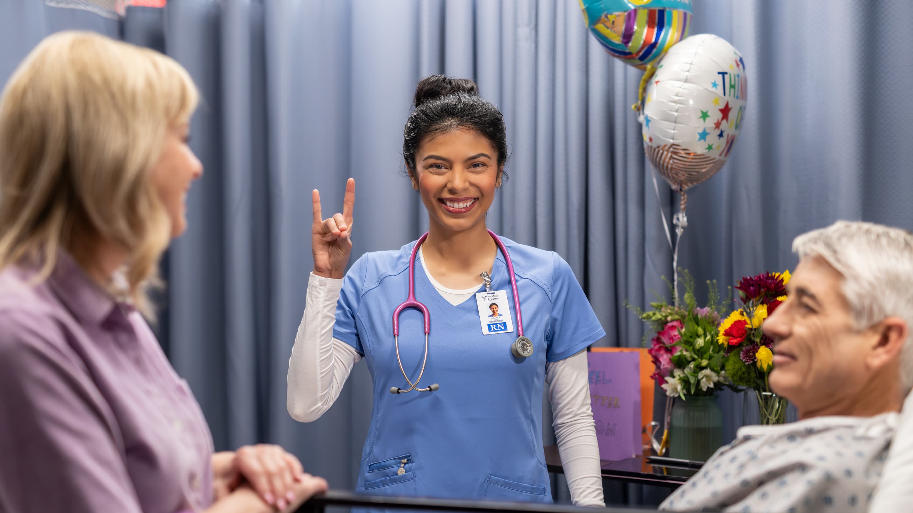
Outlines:
[[[669,457],[707,461],[723,445],[723,414],[715,395],[676,399],[669,420]]]

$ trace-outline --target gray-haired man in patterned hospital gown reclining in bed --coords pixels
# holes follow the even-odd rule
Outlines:
[[[763,328],[776,340],[771,388],[800,421],[741,428],[661,509],[868,508],[913,384],[913,236],[838,222],[797,237],[793,251],[789,299]]]

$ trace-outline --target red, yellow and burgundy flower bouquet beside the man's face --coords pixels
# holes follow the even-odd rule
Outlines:
[[[789,271],[741,278],[736,286],[741,307],[719,325],[717,340],[725,354],[726,374],[735,386],[754,390],[761,424],[786,420],[786,399],[771,392],[773,340],[761,331],[761,323],[786,300],[789,281]]]

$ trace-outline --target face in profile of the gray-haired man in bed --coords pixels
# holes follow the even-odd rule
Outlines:
[[[878,334],[856,329],[842,280],[824,258],[803,258],[789,298],[763,324],[776,340],[771,389],[800,412],[839,403],[880,371],[872,364]]]

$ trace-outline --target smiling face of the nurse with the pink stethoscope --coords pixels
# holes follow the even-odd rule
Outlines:
[[[453,232],[485,223],[501,171],[487,137],[465,129],[429,136],[415,152],[415,168],[412,186],[431,223]]]

